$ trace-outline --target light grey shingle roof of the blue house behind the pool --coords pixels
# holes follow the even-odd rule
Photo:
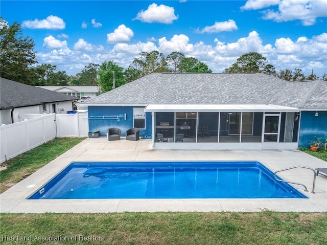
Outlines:
[[[326,108],[326,84],[322,80],[289,82],[262,73],[152,73],[87,104],[276,104],[316,108],[314,98],[318,97],[319,106]]]

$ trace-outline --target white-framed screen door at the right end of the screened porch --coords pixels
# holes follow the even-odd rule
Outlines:
[[[264,114],[262,148],[264,149],[278,148],[280,128],[281,128],[281,114]]]

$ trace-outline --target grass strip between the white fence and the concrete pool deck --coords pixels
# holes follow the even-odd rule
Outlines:
[[[0,193],[25,179],[85,138],[56,138],[1,164]]]

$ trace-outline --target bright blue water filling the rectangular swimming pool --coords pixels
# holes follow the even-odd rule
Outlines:
[[[307,198],[259,162],[73,162],[29,199]]]

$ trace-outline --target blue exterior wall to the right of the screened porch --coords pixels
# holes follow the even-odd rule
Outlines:
[[[311,140],[322,138],[324,142],[327,137],[327,112],[301,112],[299,130],[299,147],[308,147]]]

